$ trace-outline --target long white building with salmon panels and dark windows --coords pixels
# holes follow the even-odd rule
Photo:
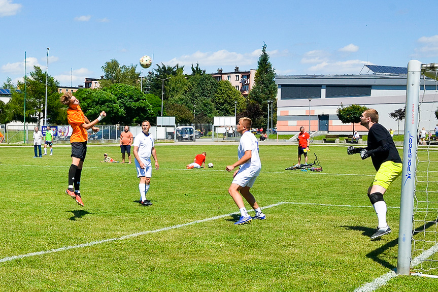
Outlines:
[[[406,105],[407,69],[399,67],[367,66],[374,72],[394,69],[395,73],[363,75],[296,75],[276,76],[277,94],[277,131],[279,134],[296,134],[299,127],[310,131],[324,131],[333,134],[351,134],[352,124],[343,124],[336,115],[341,106],[357,104],[374,108],[379,112],[379,123],[386,128],[397,130],[398,122],[389,117],[389,113],[403,109]],[[398,73],[397,73],[398,72]],[[424,121],[420,126],[433,130],[438,122],[434,111],[438,104],[435,80],[426,78],[426,91],[423,96],[421,80],[420,117]],[[433,108],[434,107],[434,108]],[[400,121],[400,132],[405,121]],[[366,133],[365,127],[355,124],[355,129]]]

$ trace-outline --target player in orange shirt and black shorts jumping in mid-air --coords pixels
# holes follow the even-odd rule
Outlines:
[[[82,165],[85,155],[87,154],[87,130],[92,129],[94,133],[99,131],[99,128],[94,125],[106,117],[107,114],[103,111],[97,119],[90,122],[82,112],[78,99],[75,98],[72,93],[63,94],[60,101],[61,104],[69,106],[67,109],[67,120],[73,128],[72,136],[70,137],[70,143],[72,144],[72,165],[69,170],[69,187],[65,193],[74,198],[79,205],[84,206],[79,184],[81,182]]]

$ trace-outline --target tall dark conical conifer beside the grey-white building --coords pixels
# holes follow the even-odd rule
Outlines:
[[[253,117],[253,124],[255,127],[262,127],[267,125],[267,101],[273,101],[273,113],[277,112],[277,85],[275,84],[275,69],[272,67],[271,62],[269,62],[269,55],[266,53],[266,44],[264,43],[257,65],[258,67],[254,77],[254,86],[249,92],[249,99],[259,105],[262,113],[260,116]],[[275,120],[275,123],[277,123],[277,115],[275,115],[275,119],[273,120]]]

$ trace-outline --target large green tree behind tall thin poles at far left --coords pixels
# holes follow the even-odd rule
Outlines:
[[[40,124],[45,119],[46,104],[46,73],[40,67],[34,66],[30,77],[26,78],[26,122]],[[63,120],[63,110],[59,103],[59,82],[52,76],[47,77],[47,120],[57,124]],[[18,81],[20,92],[13,91],[9,110],[11,119],[24,122],[24,81]]]

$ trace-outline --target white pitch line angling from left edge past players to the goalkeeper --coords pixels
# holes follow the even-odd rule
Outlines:
[[[279,202],[277,204],[272,204],[272,205],[261,207],[261,209],[273,208],[273,207],[277,207],[277,206],[280,206],[280,205],[283,205],[283,204],[317,205],[317,206],[330,206],[330,207],[352,207],[352,208],[364,208],[364,207],[370,208],[371,207],[371,206],[330,205],[330,204],[316,204],[316,203]],[[391,207],[389,207],[389,208],[391,208]],[[398,207],[392,207],[392,208],[398,208]],[[250,212],[252,212],[252,211],[254,211],[254,210],[250,210]],[[210,217],[210,218],[206,218],[206,219],[195,220],[195,221],[184,223],[184,224],[177,224],[177,225],[173,225],[173,226],[169,226],[169,227],[165,227],[165,228],[160,228],[160,229],[155,229],[155,230],[148,230],[148,231],[143,231],[143,232],[139,232],[139,233],[128,234],[128,235],[125,235],[125,236],[122,236],[122,237],[117,237],[117,238],[109,238],[109,239],[104,239],[104,240],[97,240],[97,241],[82,243],[82,244],[78,244],[78,245],[63,246],[63,247],[59,247],[59,248],[55,248],[55,249],[49,249],[49,250],[43,250],[43,251],[37,251],[37,252],[30,252],[30,253],[20,254],[20,255],[7,256],[7,257],[4,257],[4,258],[0,258],[0,263],[11,262],[11,261],[14,261],[15,259],[29,257],[29,256],[43,255],[43,254],[54,253],[54,252],[59,252],[59,251],[64,251],[64,250],[69,250],[69,249],[74,249],[74,248],[81,248],[81,247],[87,247],[87,246],[102,244],[102,243],[106,243],[106,242],[130,239],[130,238],[139,237],[139,236],[146,235],[146,234],[152,234],[152,233],[157,233],[157,232],[162,232],[162,231],[167,231],[167,230],[172,230],[172,229],[178,229],[178,228],[182,228],[184,226],[189,226],[189,225],[196,224],[196,223],[216,220],[216,219],[220,219],[220,218],[223,218],[223,217],[227,217],[227,216],[230,216],[230,215],[236,215],[236,214],[240,214],[240,212],[223,214],[223,215],[214,216],[214,217]]]

